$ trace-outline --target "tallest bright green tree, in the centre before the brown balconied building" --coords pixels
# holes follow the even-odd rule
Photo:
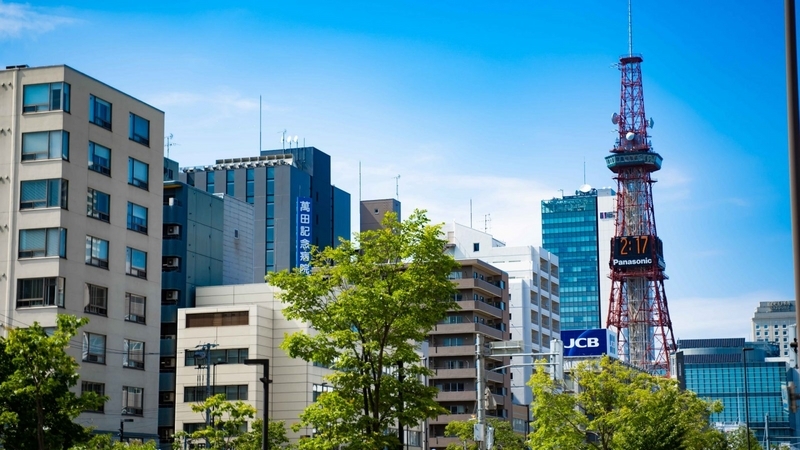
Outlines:
[[[301,448],[396,448],[395,433],[385,430],[446,412],[436,388],[422,383],[430,372],[416,352],[457,308],[448,276],[459,266],[443,253],[445,243],[424,212],[402,223],[387,214],[382,229],[358,233],[355,242],[313,249],[310,274],[295,269],[268,277],[283,290],[284,315],[315,330],[287,336],[282,348],[335,369],[328,378],[334,390],[295,425],[317,430]]]

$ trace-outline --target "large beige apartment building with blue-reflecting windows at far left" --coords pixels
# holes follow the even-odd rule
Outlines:
[[[164,113],[68,66],[0,70],[0,321],[90,319],[77,419],[157,438]]]

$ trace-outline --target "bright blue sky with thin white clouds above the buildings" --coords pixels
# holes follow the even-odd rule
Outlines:
[[[497,3],[497,4],[495,4]],[[502,4],[501,4],[502,3]],[[782,2],[634,1],[677,338],[794,297]],[[182,166],[297,135],[359,198],[540,245],[540,202],[615,186],[627,2],[0,2],[0,62],[68,64],[166,112]],[[491,222],[487,221],[487,215]],[[357,226],[354,215],[353,224]]]

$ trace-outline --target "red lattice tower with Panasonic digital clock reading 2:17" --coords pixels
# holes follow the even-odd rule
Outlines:
[[[612,121],[619,137],[606,157],[617,180],[617,211],[611,241],[611,299],[608,327],[617,332],[620,356],[647,372],[669,376],[675,348],[664,292],[664,257],[656,233],[651,174],[661,156],[651,148],[644,114],[642,57],[619,60],[622,73],[619,114]]]

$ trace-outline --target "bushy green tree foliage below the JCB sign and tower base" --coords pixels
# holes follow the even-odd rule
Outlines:
[[[718,449],[721,432],[708,417],[722,406],[604,357],[572,373],[578,392],[567,392],[541,368],[531,378],[532,449]],[[723,447],[724,448],[724,447]]]

